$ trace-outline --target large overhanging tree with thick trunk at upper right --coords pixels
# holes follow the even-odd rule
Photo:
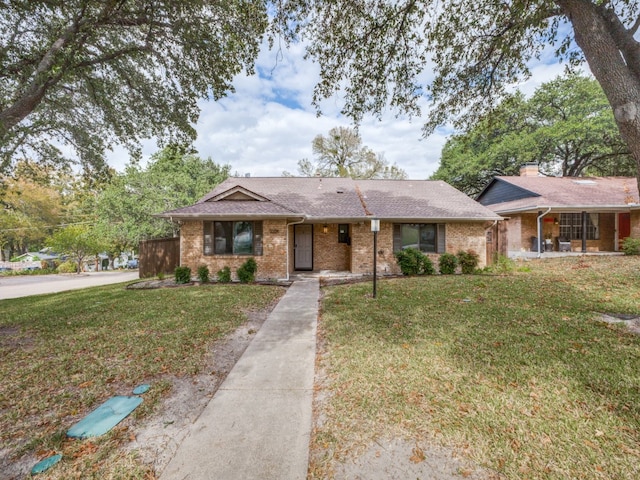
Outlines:
[[[359,120],[389,106],[419,114],[426,96],[426,134],[448,120],[476,122],[547,47],[561,60],[586,60],[640,182],[639,9],[636,0],[290,0],[276,30],[309,39],[320,65],[316,105],[342,90],[344,113]]]

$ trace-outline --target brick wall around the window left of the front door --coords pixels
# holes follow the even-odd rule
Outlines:
[[[265,220],[262,224],[262,255],[255,255],[258,264],[257,279],[285,278],[287,272],[286,222]],[[206,265],[215,277],[224,267],[231,269],[237,279],[237,269],[247,261],[247,255],[203,255],[202,221],[184,222],[180,228],[180,264],[191,268],[195,276],[200,265]]]

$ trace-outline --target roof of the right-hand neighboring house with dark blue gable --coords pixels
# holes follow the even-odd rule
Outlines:
[[[495,177],[478,202],[499,214],[640,208],[634,177]]]

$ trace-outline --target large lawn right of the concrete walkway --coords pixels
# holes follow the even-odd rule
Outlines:
[[[640,316],[640,259],[527,266],[326,288],[311,477],[385,436],[504,478],[640,477],[640,337],[598,321]]]

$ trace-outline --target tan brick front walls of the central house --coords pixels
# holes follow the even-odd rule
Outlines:
[[[338,224],[316,224],[313,229],[314,271],[350,271],[370,275],[373,273],[373,233],[369,222],[349,225],[351,245],[338,242]],[[285,278],[294,272],[293,237],[295,225],[288,226],[284,220],[263,222],[263,254],[254,256],[258,264],[258,279]],[[181,227],[181,265],[194,273],[200,265],[206,265],[212,276],[228,266],[232,278],[248,258],[246,255],[204,255],[203,222],[188,221]],[[480,223],[450,223],[446,226],[447,252],[473,250],[478,254],[480,267],[486,265],[486,232]],[[287,245],[287,237],[289,244]],[[289,261],[287,261],[287,256]],[[429,255],[437,265],[439,255]],[[378,233],[377,270],[381,275],[398,274],[400,269],[393,254],[393,224],[381,222]]]

